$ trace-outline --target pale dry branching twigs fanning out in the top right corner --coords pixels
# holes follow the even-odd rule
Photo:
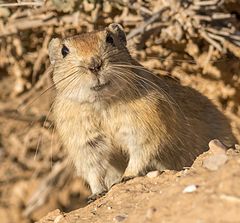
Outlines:
[[[137,35],[141,35],[142,41],[140,41],[139,45],[141,46],[142,42],[145,42],[146,39],[149,38],[151,33],[154,33],[155,29],[151,29],[151,32],[147,33],[147,27],[150,24],[155,24],[158,19],[160,21],[171,21],[168,27],[178,21],[182,29],[186,31],[186,34],[189,38],[197,37],[200,35],[203,39],[205,39],[210,45],[214,46],[220,52],[225,52],[225,40],[226,38],[232,40],[232,42],[236,45],[240,45],[240,36],[233,33],[231,28],[226,27],[224,30],[221,25],[219,30],[216,26],[212,26],[212,22],[222,23],[225,20],[231,20],[233,18],[232,14],[219,12],[218,7],[223,4],[223,1],[194,1],[193,4],[190,4],[187,8],[184,8],[179,12],[179,6],[171,5],[166,3],[164,7],[162,7],[158,12],[154,13],[148,20],[146,20],[142,25],[137,26],[133,29],[128,35],[127,39],[132,39]],[[215,7],[214,9],[212,7]],[[181,8],[181,6],[180,6]],[[161,18],[162,13],[167,10],[171,10],[171,15],[168,15],[168,19]],[[201,11],[215,10],[211,15],[203,15]],[[166,24],[165,24],[166,25]],[[161,24],[158,29],[165,26]],[[213,28],[214,27],[214,28]],[[150,35],[149,35],[150,34]]]

